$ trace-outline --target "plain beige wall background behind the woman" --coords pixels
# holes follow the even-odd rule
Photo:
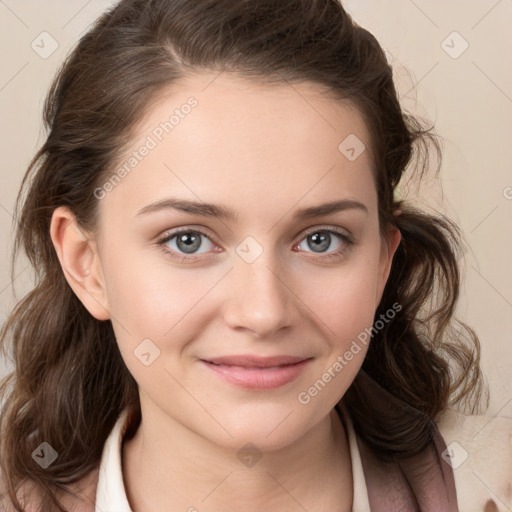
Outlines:
[[[43,141],[44,96],[69,49],[111,4],[0,1],[2,322],[15,301],[9,273],[13,204]],[[403,105],[435,121],[444,139],[444,196],[439,184],[431,183],[421,201],[456,220],[471,246],[459,316],[482,340],[492,394],[487,414],[512,417],[512,1],[350,0],[345,5],[393,60]],[[51,49],[43,31],[58,44],[47,58],[31,47],[45,37],[45,48]],[[31,284],[24,262],[15,276],[21,297]],[[6,371],[0,361],[0,375]]]

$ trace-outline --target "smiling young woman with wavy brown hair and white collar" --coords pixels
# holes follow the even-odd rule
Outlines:
[[[392,78],[334,0],[123,0],[83,36],[19,199],[6,509],[507,510]]]

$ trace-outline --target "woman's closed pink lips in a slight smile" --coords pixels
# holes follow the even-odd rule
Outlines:
[[[311,359],[240,355],[201,359],[201,362],[236,386],[245,389],[275,389],[295,380]]]

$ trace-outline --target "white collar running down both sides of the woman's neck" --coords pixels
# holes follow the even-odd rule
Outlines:
[[[352,478],[354,482],[354,498],[352,509],[357,512],[370,512],[366,480],[357,446],[356,434],[352,421],[342,407],[344,422],[350,447],[352,461]],[[121,445],[128,427],[128,410],[125,409],[117,419],[103,446],[103,453],[96,489],[96,509],[102,512],[133,512],[126,497],[121,466]]]

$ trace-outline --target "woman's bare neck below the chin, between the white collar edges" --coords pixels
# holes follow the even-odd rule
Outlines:
[[[210,443],[171,418],[165,426],[142,421],[134,437],[123,444],[123,476],[131,508],[133,512],[352,510],[350,450],[334,409],[285,448],[266,451],[257,462],[251,459],[254,453],[246,454],[242,457],[240,451]]]

